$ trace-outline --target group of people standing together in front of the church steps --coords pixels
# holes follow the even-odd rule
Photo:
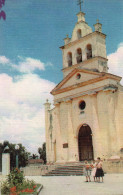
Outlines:
[[[97,160],[94,160],[92,164],[89,164],[87,160],[85,161],[84,175],[86,177],[86,182],[91,182],[91,176],[94,178],[94,182],[100,182],[100,178],[102,178],[103,182],[104,171],[100,157],[98,157]]]

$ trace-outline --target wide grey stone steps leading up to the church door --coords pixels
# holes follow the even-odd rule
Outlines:
[[[66,164],[58,164],[56,168],[48,173],[45,173],[42,176],[71,176],[83,175],[83,163],[66,163]]]

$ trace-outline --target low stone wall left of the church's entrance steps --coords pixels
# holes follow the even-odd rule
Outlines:
[[[21,168],[21,171],[25,176],[41,176],[55,168],[55,165],[27,166]]]

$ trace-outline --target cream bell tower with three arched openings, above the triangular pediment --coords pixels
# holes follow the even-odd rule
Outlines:
[[[94,24],[95,30],[85,20],[85,13],[77,14],[78,20],[71,38],[67,35],[63,55],[63,75],[66,77],[73,69],[85,69],[94,72],[107,72],[106,35],[102,33],[102,24]]]

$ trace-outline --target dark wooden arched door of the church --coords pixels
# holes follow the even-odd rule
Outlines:
[[[88,125],[82,125],[78,135],[79,160],[93,160],[92,131]]]

